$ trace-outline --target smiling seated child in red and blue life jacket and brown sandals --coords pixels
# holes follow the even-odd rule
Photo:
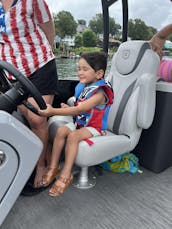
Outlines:
[[[59,178],[49,190],[49,195],[62,194],[73,180],[74,164],[78,144],[82,140],[104,134],[107,129],[109,108],[113,102],[113,91],[104,80],[107,56],[104,52],[83,53],[78,62],[79,84],[75,89],[75,106],[61,104],[53,108],[47,104],[46,110],[39,110],[42,116],[72,115],[74,122],[58,128],[50,166],[45,172],[42,186],[48,186],[60,171],[59,159],[65,146],[65,163]],[[91,146],[90,146],[91,147]]]

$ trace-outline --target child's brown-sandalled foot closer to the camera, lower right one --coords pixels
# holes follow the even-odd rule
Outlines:
[[[58,180],[50,188],[49,195],[59,196],[63,194],[66,188],[68,188],[69,185],[72,183],[72,181],[73,181],[72,174],[68,178],[60,176]]]

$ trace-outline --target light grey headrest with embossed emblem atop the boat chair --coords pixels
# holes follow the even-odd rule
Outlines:
[[[151,46],[146,41],[123,42],[116,52],[115,66],[117,71],[122,75],[132,73],[147,49],[151,49]]]

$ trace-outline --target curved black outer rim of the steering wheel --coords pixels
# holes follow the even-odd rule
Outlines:
[[[33,85],[33,83],[25,77],[19,70],[17,70],[12,64],[6,61],[0,61],[0,69],[6,70],[12,76],[16,78],[17,81],[30,93],[30,95],[35,99],[40,109],[46,109],[46,103],[43,100],[38,89]],[[30,109],[30,107],[28,107]],[[36,108],[35,108],[36,110]],[[37,112],[36,112],[37,113]]]

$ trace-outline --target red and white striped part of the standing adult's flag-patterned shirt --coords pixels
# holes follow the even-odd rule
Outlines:
[[[18,0],[5,13],[6,33],[0,33],[0,59],[30,76],[54,58],[39,23],[51,20],[44,0]]]

